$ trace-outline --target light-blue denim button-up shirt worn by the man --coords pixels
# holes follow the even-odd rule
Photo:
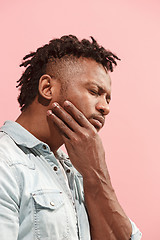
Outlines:
[[[61,150],[55,156],[12,121],[0,129],[0,239],[91,239],[82,176]]]

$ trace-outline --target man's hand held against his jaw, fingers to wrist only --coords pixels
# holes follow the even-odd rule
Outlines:
[[[65,101],[64,108],[53,104],[50,118],[59,128],[74,167],[83,175],[106,168],[102,141],[96,128],[71,102]]]

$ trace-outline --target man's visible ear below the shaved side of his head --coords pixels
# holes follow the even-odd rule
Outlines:
[[[52,81],[52,78],[48,74],[44,74],[39,79],[39,94],[46,100],[52,99]]]

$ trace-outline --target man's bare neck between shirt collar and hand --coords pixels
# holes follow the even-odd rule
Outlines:
[[[30,106],[20,114],[16,122],[40,141],[48,144],[52,152],[56,153],[63,140],[56,126],[47,118],[46,112],[46,108],[35,109]]]

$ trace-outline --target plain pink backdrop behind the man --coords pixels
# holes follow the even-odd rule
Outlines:
[[[145,240],[160,239],[159,13],[158,0],[0,1],[0,125],[19,114],[22,57],[50,39],[93,35],[122,59],[101,136],[119,201]]]

